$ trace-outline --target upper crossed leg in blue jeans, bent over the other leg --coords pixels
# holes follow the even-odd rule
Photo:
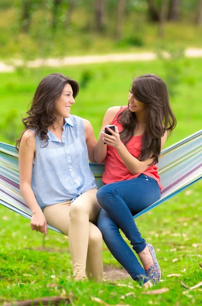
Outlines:
[[[136,179],[101,187],[97,199],[109,217],[130,240],[136,253],[146,248],[131,212],[139,212],[160,198],[160,188],[154,179],[140,175]]]

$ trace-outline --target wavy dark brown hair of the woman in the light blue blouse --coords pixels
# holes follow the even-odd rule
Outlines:
[[[46,75],[37,87],[30,110],[26,112],[28,116],[22,118],[22,123],[25,127],[22,135],[25,131],[32,129],[41,140],[45,140],[48,144],[48,126],[56,120],[53,115],[54,102],[60,98],[66,84],[71,85],[73,97],[75,98],[79,92],[79,86],[76,81],[65,77],[61,73]],[[16,139],[17,150],[19,150],[18,146],[20,145],[22,135],[19,139]]]

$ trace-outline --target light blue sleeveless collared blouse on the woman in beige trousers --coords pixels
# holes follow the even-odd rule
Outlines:
[[[32,189],[40,208],[75,200],[96,187],[89,166],[83,121],[65,118],[62,142],[48,131],[48,145],[36,135],[36,156],[32,171]]]

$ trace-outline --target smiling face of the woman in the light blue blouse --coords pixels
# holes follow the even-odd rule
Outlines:
[[[56,118],[68,118],[70,108],[75,103],[73,90],[70,84],[66,84],[59,99],[54,103],[54,116]]]

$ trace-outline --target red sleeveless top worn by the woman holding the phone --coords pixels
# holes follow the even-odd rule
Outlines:
[[[121,108],[119,112],[116,114],[116,116],[113,118],[113,120],[111,121],[111,124],[114,124],[118,127],[119,132],[123,130],[123,126],[121,125],[121,123],[117,121],[117,116],[126,108]],[[142,135],[133,136],[126,145],[126,148],[130,152],[130,154],[137,159],[141,154],[141,138]],[[153,177],[153,179],[157,181],[162,191],[163,187],[160,184],[160,177],[158,175],[157,169],[158,169],[157,165],[151,165],[144,172],[140,172],[133,175],[123,163],[117,150],[114,147],[108,145],[107,157],[105,159],[105,171],[103,173],[102,182],[104,184],[110,184],[114,182],[130,180],[134,179],[135,177],[143,173],[145,175]]]

